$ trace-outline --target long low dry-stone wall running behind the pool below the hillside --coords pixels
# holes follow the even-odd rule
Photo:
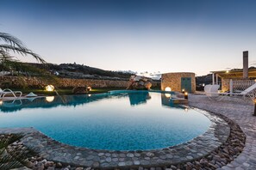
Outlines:
[[[93,79],[70,79],[59,78],[59,88],[74,88],[78,86],[91,86],[92,88],[127,88],[128,81],[93,80]],[[50,82],[36,77],[0,76],[0,86],[4,88],[20,87],[45,87]],[[159,82],[152,82],[153,87],[159,87]],[[55,85],[53,83],[53,85]],[[0,87],[1,88],[1,87]]]

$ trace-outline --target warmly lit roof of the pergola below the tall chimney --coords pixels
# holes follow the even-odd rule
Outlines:
[[[242,78],[243,70],[219,70],[219,71],[210,71],[222,78]],[[248,70],[248,77],[256,77],[256,70]]]

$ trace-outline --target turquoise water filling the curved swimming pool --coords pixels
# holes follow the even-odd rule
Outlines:
[[[91,149],[161,149],[203,134],[210,124],[160,93],[70,95],[0,106],[0,128],[34,127],[61,143]]]

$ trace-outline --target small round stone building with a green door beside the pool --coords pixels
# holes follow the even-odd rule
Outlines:
[[[183,89],[188,93],[196,92],[195,73],[178,72],[165,73],[161,76],[161,90],[171,88],[172,91],[181,92]]]

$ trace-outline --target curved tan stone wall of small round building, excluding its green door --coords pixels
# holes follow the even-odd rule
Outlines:
[[[181,92],[181,77],[191,77],[191,92],[196,92],[196,78],[195,73],[165,73],[162,74],[161,90],[165,90],[166,87],[172,88],[172,91]]]

